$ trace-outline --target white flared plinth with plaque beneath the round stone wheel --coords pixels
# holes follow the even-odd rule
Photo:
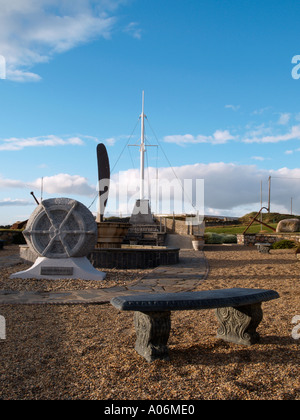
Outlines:
[[[105,273],[96,270],[86,257],[81,258],[45,258],[39,257],[34,265],[25,271],[12,274],[11,279],[70,279],[104,280]]]

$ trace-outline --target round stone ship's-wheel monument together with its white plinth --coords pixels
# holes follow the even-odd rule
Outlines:
[[[30,216],[23,232],[30,250],[38,255],[34,265],[10,278],[103,280],[87,255],[97,243],[97,223],[92,213],[70,198],[44,200]]]

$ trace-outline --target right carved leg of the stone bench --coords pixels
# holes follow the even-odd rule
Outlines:
[[[250,346],[259,341],[256,328],[263,319],[261,303],[235,308],[216,309],[220,322],[217,338],[235,344]]]

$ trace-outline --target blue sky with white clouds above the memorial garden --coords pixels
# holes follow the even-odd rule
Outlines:
[[[29,217],[41,177],[43,198],[89,206],[99,142],[113,179],[138,178],[143,90],[150,177],[204,179],[205,213],[242,215],[271,176],[271,210],[300,214],[299,17],[296,0],[0,0],[0,224]]]

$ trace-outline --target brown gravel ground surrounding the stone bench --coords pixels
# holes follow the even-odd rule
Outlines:
[[[205,255],[210,274],[198,290],[253,287],[281,295],[263,304],[259,344],[244,347],[216,339],[212,310],[175,312],[171,361],[149,364],[134,350],[132,314],[109,304],[2,305],[7,337],[0,341],[0,398],[299,400],[300,340],[291,334],[292,319],[300,315],[300,261],[289,250],[263,255],[237,246],[207,248]],[[0,289],[87,288],[86,282],[8,280],[20,269],[1,270]],[[136,270],[105,271],[105,287],[141,275]]]

